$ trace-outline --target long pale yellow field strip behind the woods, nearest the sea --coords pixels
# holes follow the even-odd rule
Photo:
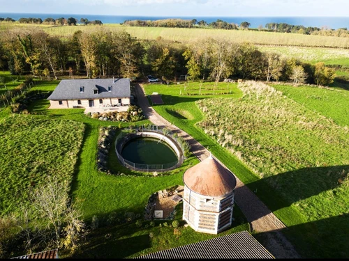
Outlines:
[[[252,42],[259,45],[295,45],[301,47],[349,47],[348,38],[322,35],[302,35],[298,33],[275,33],[251,30],[225,30],[225,29],[186,29],[165,27],[136,27],[121,24],[103,24],[103,26],[47,26],[27,25],[17,23],[0,23],[0,30],[22,29],[24,26],[36,27],[52,35],[66,37],[73,35],[77,30],[96,31],[107,29],[110,31],[125,30],[138,39],[156,39],[179,42],[200,42],[207,38],[223,39],[230,42]]]

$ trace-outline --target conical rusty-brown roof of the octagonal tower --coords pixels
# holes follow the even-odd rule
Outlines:
[[[224,196],[235,189],[237,180],[212,156],[188,168],[183,182],[186,187],[204,196]]]

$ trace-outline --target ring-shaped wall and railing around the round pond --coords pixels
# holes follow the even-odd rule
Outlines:
[[[145,127],[144,125],[138,127],[137,129],[125,129],[125,132],[122,132],[117,136],[117,139],[115,139],[114,148],[115,153],[117,153],[117,158],[119,159],[119,162],[125,166],[126,168],[131,168],[133,171],[146,171],[146,172],[164,172],[164,171],[170,171],[174,168],[178,168],[183,164],[184,161],[184,148],[181,142],[178,141],[177,137],[174,136],[173,132],[171,132],[169,129],[159,127],[156,125],[149,125]],[[124,139],[124,136],[128,134],[137,134],[139,132],[156,132],[159,134],[163,134],[164,136],[170,137],[172,140],[174,140],[177,145],[179,145],[179,148],[181,148],[181,156],[179,157],[178,161],[166,163],[166,164],[138,164],[132,161],[129,161],[127,159],[124,159],[122,155],[117,150],[117,145],[121,139]],[[176,153],[177,154],[177,153]]]

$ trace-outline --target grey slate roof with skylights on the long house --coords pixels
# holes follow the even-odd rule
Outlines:
[[[80,87],[84,92],[80,93]],[[112,91],[108,92],[108,86]],[[98,89],[98,94],[94,90]],[[61,80],[58,86],[47,100],[79,100],[79,99],[101,99],[114,97],[130,97],[130,79],[77,79]]]

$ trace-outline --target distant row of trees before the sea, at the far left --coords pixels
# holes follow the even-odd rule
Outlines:
[[[0,21],[6,21],[6,22],[15,22],[15,19],[7,17],[7,18],[2,18],[0,17]],[[24,18],[21,17],[18,19],[18,22],[20,24],[52,24],[52,25],[76,25],[77,24],[77,19],[74,17],[69,17],[68,19],[64,17],[59,17],[57,19],[54,19],[52,17],[47,17],[44,20],[41,18]],[[93,25],[101,25],[103,24],[101,20],[94,20],[94,21],[89,21],[87,18],[81,18],[80,23],[82,24],[93,24]]]

